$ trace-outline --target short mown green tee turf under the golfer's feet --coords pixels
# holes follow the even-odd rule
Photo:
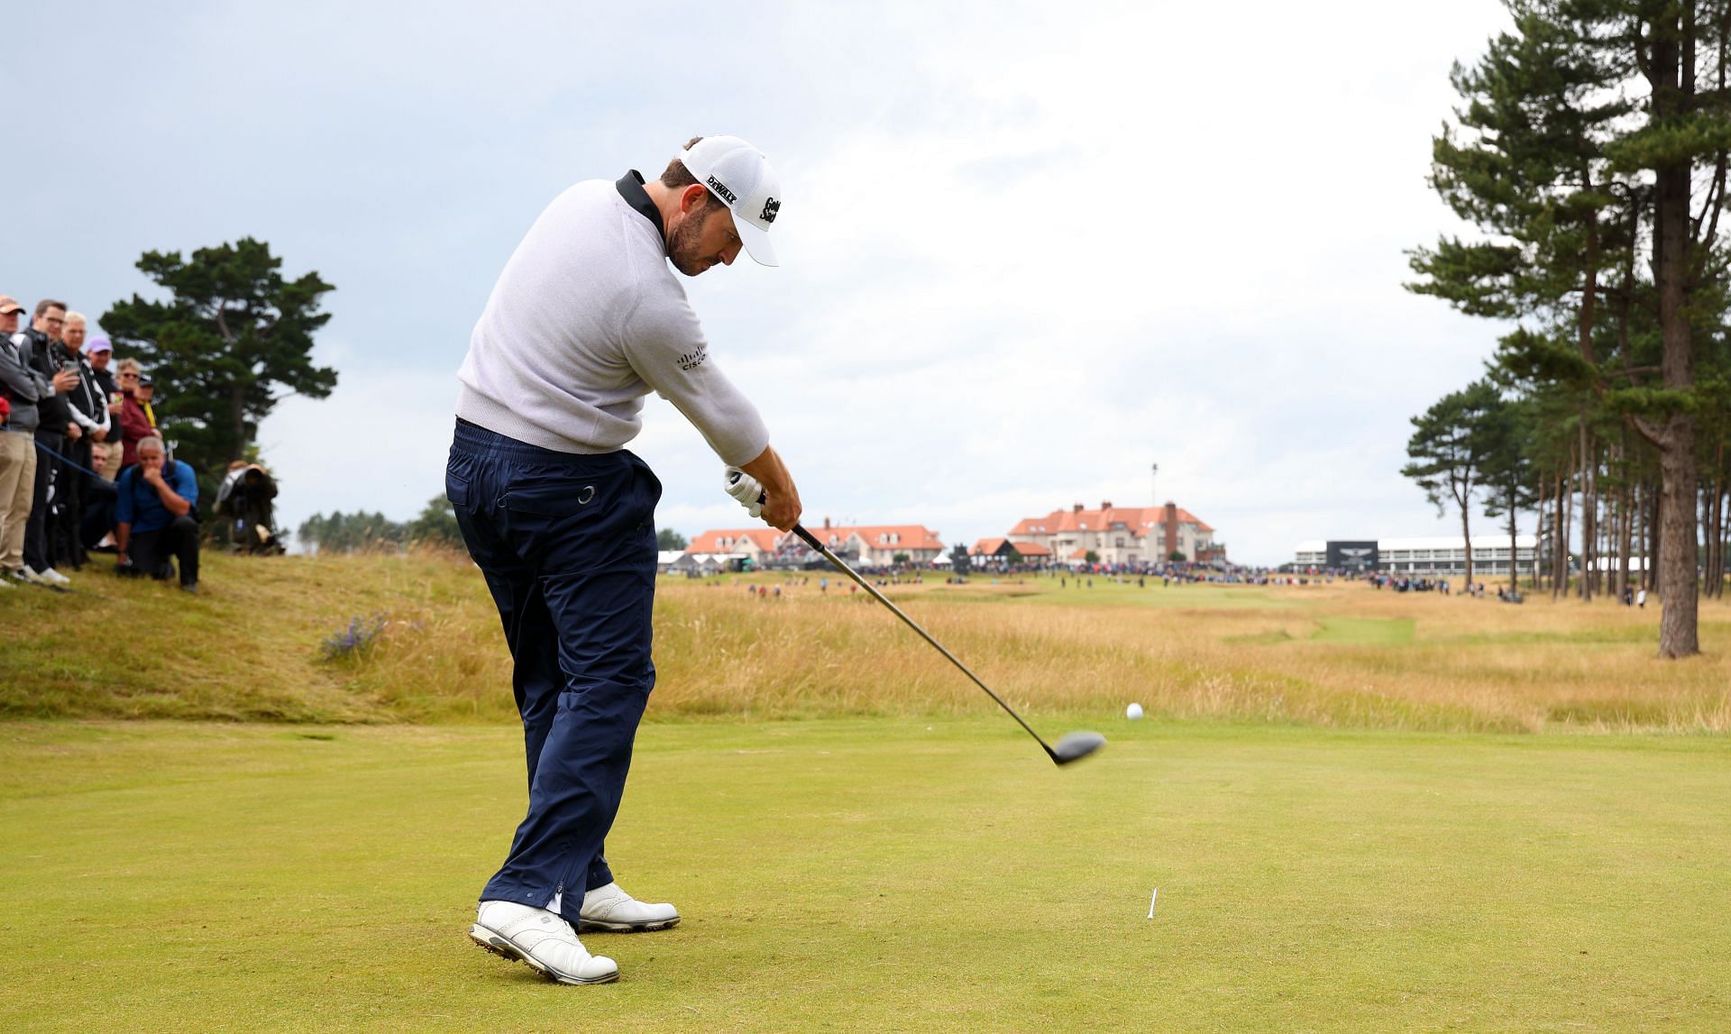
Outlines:
[[[1047,715],[644,726],[672,899],[561,987],[466,937],[505,726],[0,726],[7,1031],[1722,1031],[1731,741]],[[1158,889],[1153,920],[1149,897]]]

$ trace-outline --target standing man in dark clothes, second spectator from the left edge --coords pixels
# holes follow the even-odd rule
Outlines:
[[[61,334],[66,329],[66,303],[43,298],[36,303],[36,317],[28,331],[12,338],[24,365],[45,390],[36,398],[36,478],[29,492],[29,520],[24,523],[23,578],[38,585],[71,585],[73,580],[54,570],[54,544],[48,539],[48,521],[57,513],[71,404],[68,395],[78,386],[78,364],[61,362],[64,355]],[[50,506],[54,511],[50,511]]]

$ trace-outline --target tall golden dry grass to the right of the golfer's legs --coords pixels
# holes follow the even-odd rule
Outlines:
[[[1707,656],[1655,660],[1657,611],[1309,589],[893,591],[1018,708],[1399,729],[1731,729],[1731,608]],[[1103,604],[1104,603],[1104,604]],[[1257,606],[1265,603],[1267,606]],[[1329,636],[1342,622],[1347,636]],[[1390,630],[1378,641],[1380,629]],[[673,714],[921,714],[990,701],[867,601],[665,585],[656,705]],[[1409,641],[1399,641],[1409,636]],[[1364,639],[1364,641],[1355,641]]]

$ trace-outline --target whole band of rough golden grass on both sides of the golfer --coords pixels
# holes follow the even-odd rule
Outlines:
[[[663,578],[651,721],[980,714],[992,703],[864,592],[820,572]],[[748,598],[748,582],[782,585]],[[479,575],[450,554],[213,556],[183,598],[99,568],[0,596],[0,715],[293,722],[514,717]],[[1522,606],[1362,584],[1136,587],[942,578],[886,589],[1016,707],[1435,731],[1731,731],[1731,604],[1705,655],[1655,658],[1658,608]],[[355,617],[379,643],[322,660]]]

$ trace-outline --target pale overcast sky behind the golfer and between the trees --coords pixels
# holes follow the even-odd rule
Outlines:
[[[1430,139],[1494,0],[9,12],[0,293],[100,319],[149,293],[142,251],[242,236],[336,284],[336,393],[261,431],[291,528],[441,492],[457,365],[535,215],[696,133],[784,182],[782,267],[687,289],[807,523],[973,542],[1158,492],[1250,563],[1459,527],[1399,468],[1496,329],[1406,293],[1402,251],[1454,229]],[[661,527],[741,527],[668,404],[632,449]]]

